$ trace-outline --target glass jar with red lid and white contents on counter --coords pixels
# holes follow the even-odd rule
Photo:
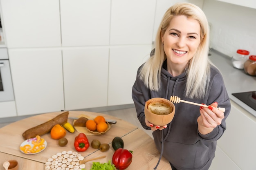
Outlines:
[[[249,53],[249,51],[238,49],[231,59],[233,66],[238,69],[243,69],[245,61],[248,60]]]

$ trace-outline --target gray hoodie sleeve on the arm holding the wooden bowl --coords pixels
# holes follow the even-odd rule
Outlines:
[[[150,130],[150,127],[146,126],[144,114],[144,106],[146,101],[150,99],[150,93],[144,82],[142,82],[139,78],[139,69],[137,71],[135,83],[132,86],[132,99],[135,104],[137,117],[141,123],[141,126],[146,130]]]

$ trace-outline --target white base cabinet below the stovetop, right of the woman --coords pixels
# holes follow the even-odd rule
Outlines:
[[[231,112],[226,120],[227,129],[224,135],[217,141],[217,145],[227,157],[222,157],[217,152],[217,160],[214,160],[218,169],[226,170],[224,167],[231,165],[239,167],[241,170],[255,170],[255,141],[256,141],[256,117],[241,108],[231,100]],[[220,159],[220,157],[223,159]],[[236,170],[234,168],[228,168]],[[238,170],[240,170],[238,169]]]

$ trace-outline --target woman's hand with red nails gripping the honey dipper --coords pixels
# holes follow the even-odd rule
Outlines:
[[[200,107],[200,116],[198,117],[198,130],[201,134],[210,133],[213,128],[221,124],[224,113],[217,108],[218,103],[214,102],[209,107]]]

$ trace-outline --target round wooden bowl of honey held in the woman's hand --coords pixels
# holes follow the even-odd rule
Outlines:
[[[146,102],[144,113],[151,124],[164,126],[173,120],[175,106],[168,99],[155,97]]]

